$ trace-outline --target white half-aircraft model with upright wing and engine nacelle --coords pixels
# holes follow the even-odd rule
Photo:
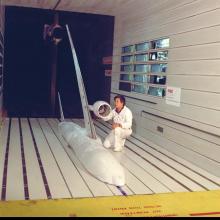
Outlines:
[[[89,112],[91,110],[98,118],[108,121],[112,117],[111,106],[104,101],[95,102],[93,106],[88,105],[81,70],[68,25],[66,25],[66,29],[76,69],[85,128],[73,122],[65,121],[60,94],[58,93],[61,113],[61,122],[58,125],[59,131],[90,174],[105,183],[123,186],[125,184],[124,169],[113,154],[104,148],[101,139],[96,134],[95,126]]]

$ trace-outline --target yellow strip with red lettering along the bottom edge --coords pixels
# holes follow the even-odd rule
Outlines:
[[[0,216],[220,216],[220,191],[0,202]]]

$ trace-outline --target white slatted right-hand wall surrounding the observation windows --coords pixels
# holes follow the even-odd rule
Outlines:
[[[220,1],[130,1],[115,22],[111,101],[126,95],[137,134],[220,176]],[[118,89],[121,48],[162,37],[170,38],[166,84],[181,88],[180,107]]]

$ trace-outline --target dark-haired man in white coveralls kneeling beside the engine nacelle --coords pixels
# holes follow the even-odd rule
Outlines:
[[[106,148],[113,146],[114,151],[122,151],[125,140],[132,133],[132,112],[125,106],[125,97],[117,95],[114,98],[112,131],[106,137],[103,145]]]

